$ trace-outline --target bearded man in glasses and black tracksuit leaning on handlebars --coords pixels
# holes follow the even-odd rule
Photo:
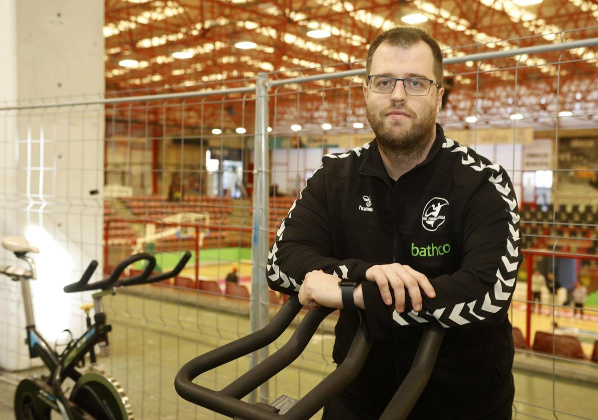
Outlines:
[[[379,418],[429,322],[447,331],[411,417],[511,417],[517,202],[504,169],[435,124],[442,80],[441,51],[426,32],[380,35],[364,86],[376,138],[322,158],[270,250],[271,288],[343,308],[335,363],[358,327],[355,306],[365,309],[373,345],[355,381],[325,407],[327,420]]]

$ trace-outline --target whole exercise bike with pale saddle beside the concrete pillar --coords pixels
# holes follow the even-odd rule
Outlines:
[[[29,264],[29,269],[0,266],[0,273],[21,283],[27,322],[25,342],[29,348],[29,357],[41,358],[50,370],[48,377],[26,378],[17,386],[14,395],[14,412],[17,420],[49,420],[52,410],[59,412],[65,420],[132,420],[133,413],[128,398],[117,381],[100,371],[88,370],[81,373],[77,369],[84,364],[88,353],[91,366],[95,364],[94,347],[96,345],[99,346],[100,355],[107,356],[109,354],[108,332],[112,327],[106,323],[102,297],[115,294],[117,288],[120,287],[153,283],[176,276],[191,257],[191,253],[185,252],[170,272],[156,276],[151,276],[155,267],[155,258],[152,255],[145,253],[132,255],[118,264],[108,278],[89,284],[91,275],[97,267],[97,261],[91,261],[81,279],[65,286],[63,290],[66,293],[97,290],[92,294],[94,323],[91,323],[89,316],[91,305],[83,305],[82,308],[87,314],[87,331],[77,340],[72,340],[66,349],[58,354],[35,330],[29,280],[36,279],[36,267],[33,259],[27,254],[29,252],[37,253],[39,249],[29,245],[25,238],[16,236],[2,239],[2,246]],[[147,261],[147,266],[141,274],[119,280],[130,264],[142,260]],[[66,378],[71,378],[75,382],[68,398],[62,389]]]

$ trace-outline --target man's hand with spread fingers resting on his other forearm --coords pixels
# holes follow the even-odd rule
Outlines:
[[[411,297],[411,304],[415,311],[422,310],[422,296],[419,289],[422,288],[426,296],[435,297],[434,288],[428,278],[410,266],[399,263],[371,266],[365,272],[368,281],[376,282],[386,305],[392,305],[392,296],[389,287],[395,294],[395,309],[398,312],[405,311],[405,289]]]

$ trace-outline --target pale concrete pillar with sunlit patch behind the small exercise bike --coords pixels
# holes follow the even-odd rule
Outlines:
[[[50,104],[103,97],[103,23],[102,0],[0,2],[0,237],[41,251],[33,309],[52,345],[64,328],[83,329],[78,306],[90,302],[62,288],[103,260],[105,118],[101,105]],[[0,264],[20,262],[0,249]],[[20,287],[1,276],[0,368],[30,366],[24,339]]]

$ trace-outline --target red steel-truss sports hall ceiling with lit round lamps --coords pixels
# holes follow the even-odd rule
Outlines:
[[[419,20],[413,25],[438,39],[446,57],[598,37],[598,1],[526,5],[533,2],[106,0],[106,91],[127,96],[217,89],[240,86],[234,81],[258,72],[285,78],[360,68],[368,43],[408,19]],[[314,37],[318,34],[327,36]],[[253,48],[239,44],[248,41]],[[478,115],[490,126],[508,126],[512,115],[521,114],[528,125],[550,128],[558,112],[571,112],[558,118],[561,126],[595,126],[597,54],[596,47],[577,48],[446,66],[451,90],[443,121],[463,127],[466,118]],[[295,71],[300,68],[312,70]],[[353,82],[358,88],[362,79]],[[347,79],[307,83],[302,89],[335,86],[346,87]],[[298,89],[287,85],[277,92]],[[347,108],[346,96],[335,99],[329,92],[323,105],[322,95],[302,95],[302,112],[313,115],[323,107],[331,112],[335,100]],[[289,99],[289,106],[296,102]],[[353,99],[349,115],[363,119],[362,106]],[[239,114],[221,118],[222,127],[238,126]],[[243,118],[251,120],[251,115]],[[332,117],[347,118],[347,112]]]

